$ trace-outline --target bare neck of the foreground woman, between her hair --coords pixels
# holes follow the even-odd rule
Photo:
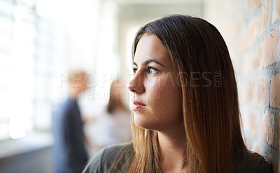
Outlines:
[[[186,172],[183,162],[186,153],[186,133],[184,130],[158,132],[160,146],[160,168],[162,172]]]

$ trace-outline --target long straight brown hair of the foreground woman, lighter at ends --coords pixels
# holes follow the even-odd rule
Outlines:
[[[177,70],[186,130],[183,167],[189,172],[232,172],[233,151],[246,151],[246,146],[235,71],[218,29],[206,20],[185,15],[155,20],[139,29],[132,58],[145,33],[158,36]],[[161,172],[157,132],[137,127],[133,118],[133,152],[123,170]]]

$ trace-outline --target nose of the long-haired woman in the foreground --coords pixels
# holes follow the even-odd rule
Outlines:
[[[128,90],[137,94],[145,92],[144,76],[141,76],[141,74],[135,74],[132,78],[132,81],[128,83]]]

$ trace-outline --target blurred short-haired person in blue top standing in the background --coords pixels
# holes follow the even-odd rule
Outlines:
[[[87,89],[87,74],[84,71],[69,73],[69,97],[57,106],[52,114],[52,132],[55,139],[55,172],[81,172],[87,162],[85,136],[78,95]]]

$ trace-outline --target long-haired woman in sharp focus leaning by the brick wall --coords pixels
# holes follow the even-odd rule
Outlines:
[[[271,172],[247,151],[235,72],[216,27],[171,15],[134,39],[130,144],[104,148],[84,172]]]

